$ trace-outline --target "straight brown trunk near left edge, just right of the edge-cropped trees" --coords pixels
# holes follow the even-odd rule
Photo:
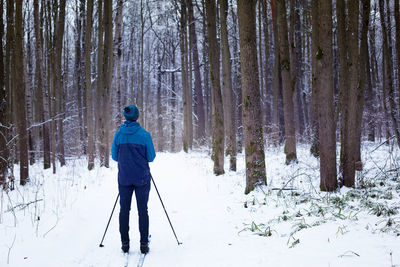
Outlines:
[[[24,51],[23,51],[23,22],[22,22],[22,1],[17,1],[15,5],[15,84],[14,101],[17,117],[17,131],[19,144],[19,163],[20,163],[20,184],[25,185],[29,179],[29,156],[28,156],[28,132],[26,130],[26,111],[25,111],[25,83],[20,74],[24,73]],[[18,75],[18,76],[17,76]]]

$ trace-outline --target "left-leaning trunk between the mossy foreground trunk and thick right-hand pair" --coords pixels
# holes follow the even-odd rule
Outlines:
[[[293,80],[290,75],[290,55],[288,30],[286,23],[286,4],[285,0],[278,0],[278,33],[280,48],[280,66],[282,73],[282,90],[283,90],[283,106],[285,118],[285,154],[286,164],[297,161],[296,155],[296,134],[294,127],[294,110],[293,110]],[[293,66],[294,67],[294,66]]]

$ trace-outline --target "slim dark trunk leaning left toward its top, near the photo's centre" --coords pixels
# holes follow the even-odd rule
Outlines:
[[[201,86],[199,52],[197,46],[196,23],[193,15],[193,0],[189,2],[189,34],[191,39],[191,52],[193,55],[194,68],[194,102],[196,103],[195,115],[197,116],[197,140],[200,145],[205,143],[205,111],[203,101],[203,89]]]

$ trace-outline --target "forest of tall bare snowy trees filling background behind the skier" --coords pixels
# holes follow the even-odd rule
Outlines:
[[[271,146],[296,164],[308,144],[334,191],[354,187],[364,140],[400,145],[397,0],[1,0],[0,12],[3,188],[14,163],[21,185],[39,161],[108,167],[129,103],[157,151],[211,150],[216,175],[244,151],[246,193],[267,183]]]

